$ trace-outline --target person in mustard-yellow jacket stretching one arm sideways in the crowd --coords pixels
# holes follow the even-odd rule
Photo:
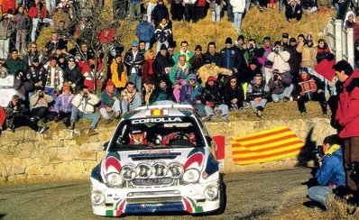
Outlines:
[[[232,70],[219,68],[218,66],[216,66],[216,63],[212,63],[210,60],[205,60],[205,65],[203,65],[197,71],[197,76],[201,80],[202,87],[205,87],[207,78],[209,77],[217,78],[219,74],[232,76]]]

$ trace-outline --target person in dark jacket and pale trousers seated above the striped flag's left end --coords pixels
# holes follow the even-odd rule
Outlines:
[[[254,114],[262,117],[262,112],[268,102],[270,89],[262,80],[262,75],[257,74],[247,87],[247,99],[249,100]]]

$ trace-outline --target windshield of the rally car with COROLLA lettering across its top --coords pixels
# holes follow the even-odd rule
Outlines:
[[[108,150],[203,147],[203,137],[195,118],[189,116],[136,118],[117,126]]]

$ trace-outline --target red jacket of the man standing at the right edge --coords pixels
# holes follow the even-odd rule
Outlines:
[[[341,138],[359,136],[359,69],[346,78],[339,93],[336,121],[343,127]]]

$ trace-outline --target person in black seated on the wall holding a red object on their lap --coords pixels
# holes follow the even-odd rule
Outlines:
[[[298,108],[301,115],[306,115],[306,103],[310,100],[318,101],[323,115],[327,115],[327,100],[324,93],[324,81],[308,73],[307,68],[300,70]]]

